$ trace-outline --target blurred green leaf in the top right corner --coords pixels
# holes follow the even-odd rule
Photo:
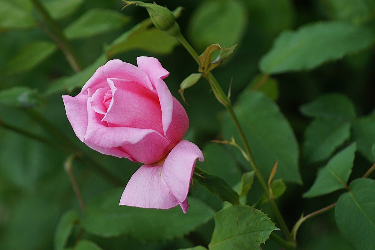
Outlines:
[[[374,0],[324,0],[322,3],[330,17],[339,21],[361,25],[375,18]]]

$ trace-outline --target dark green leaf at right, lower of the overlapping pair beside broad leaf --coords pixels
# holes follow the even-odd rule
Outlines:
[[[305,131],[303,155],[307,163],[327,160],[350,137],[350,122],[318,118]]]

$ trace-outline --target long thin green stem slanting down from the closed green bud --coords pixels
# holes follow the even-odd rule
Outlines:
[[[191,47],[191,45],[189,44],[189,42],[186,41],[186,39],[184,38],[184,36],[181,34],[181,32],[179,32],[177,35],[175,35],[175,38],[186,48],[186,50],[189,52],[189,54],[193,57],[193,59],[198,63],[199,65],[199,61],[198,61],[198,53],[196,53],[196,51],[193,49],[193,47]],[[207,81],[210,83],[214,93],[215,93],[215,96],[216,98],[226,107],[226,109],[228,110],[230,116],[232,117],[235,125],[236,125],[236,128],[240,134],[240,137],[242,139],[242,142],[243,142],[243,145],[245,146],[245,151],[246,153],[248,154],[249,156],[249,162],[252,166],[252,168],[254,169],[255,171],[255,174],[259,180],[259,182],[261,183],[263,189],[264,189],[264,192],[267,194],[267,196],[269,196],[269,190],[268,190],[268,186],[266,184],[266,181],[265,179],[263,178],[263,176],[261,175],[259,169],[258,169],[258,166],[257,164],[255,164],[255,161],[254,161],[254,157],[252,155],[252,152],[251,152],[251,149],[250,149],[250,146],[249,146],[249,143],[245,137],[245,134],[243,133],[243,130],[242,130],[242,127],[239,123],[239,120],[237,119],[237,116],[236,114],[234,113],[234,110],[233,110],[233,106],[231,104],[231,101],[230,99],[225,95],[222,87],[220,86],[220,84],[217,82],[216,78],[214,77],[214,75],[209,72],[208,74],[205,75],[205,78],[207,79]],[[287,224],[285,223],[284,221],[284,218],[282,217],[276,203],[274,200],[270,199],[270,203],[271,203],[271,206],[272,206],[272,209],[275,213],[275,216],[276,216],[276,219],[278,220],[279,224],[280,224],[280,227],[282,229],[282,231],[284,232],[285,234],[285,237],[292,241],[292,237],[291,237],[291,234],[290,234],[290,231],[288,229],[288,226]]]

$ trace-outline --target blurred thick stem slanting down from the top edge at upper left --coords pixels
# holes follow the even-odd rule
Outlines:
[[[57,42],[58,47],[63,51],[68,60],[69,64],[71,65],[72,69],[75,72],[79,72],[83,69],[82,63],[78,58],[77,52],[74,50],[68,39],[66,39],[64,33],[56,23],[56,21],[49,15],[48,11],[44,8],[42,3],[39,0],[31,0],[34,7],[40,13],[42,19],[51,26],[51,29],[55,33],[55,36],[51,32],[46,32],[46,27],[42,27],[43,30],[49,35],[55,42]],[[47,28],[48,29],[48,28]],[[52,36],[51,36],[52,35]]]

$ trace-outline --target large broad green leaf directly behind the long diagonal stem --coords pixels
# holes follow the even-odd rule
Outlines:
[[[234,111],[262,175],[269,176],[278,161],[275,178],[301,183],[297,140],[276,103],[261,92],[246,90],[238,99]],[[223,119],[223,135],[228,139],[234,136],[236,142],[243,146],[228,115]]]

